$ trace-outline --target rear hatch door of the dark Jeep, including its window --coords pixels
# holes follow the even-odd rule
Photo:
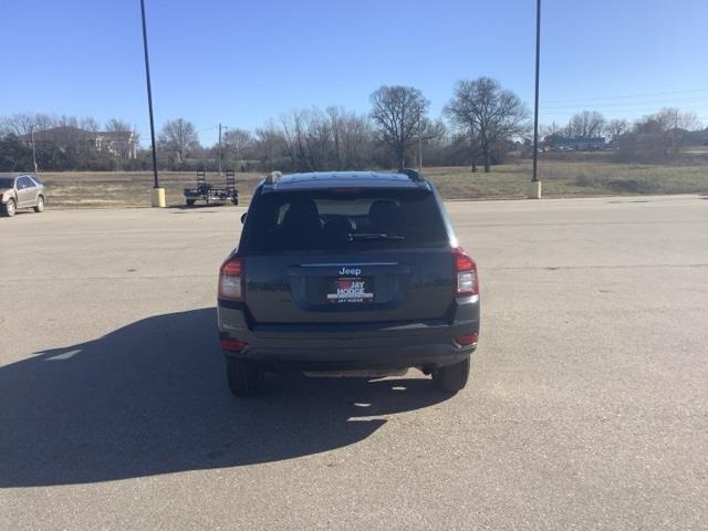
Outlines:
[[[260,199],[244,228],[246,304],[254,324],[445,317],[454,260],[429,189],[310,190]]]

